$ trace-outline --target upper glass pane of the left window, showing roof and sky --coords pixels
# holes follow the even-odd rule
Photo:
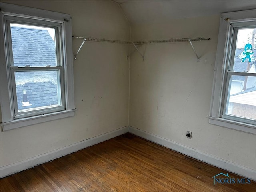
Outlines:
[[[14,66],[56,66],[54,28],[11,23]]]

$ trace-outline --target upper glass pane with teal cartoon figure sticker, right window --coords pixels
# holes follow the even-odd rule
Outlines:
[[[233,71],[256,73],[255,64],[256,28],[238,29]]]

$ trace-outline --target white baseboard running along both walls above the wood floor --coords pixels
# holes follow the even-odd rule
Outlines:
[[[0,168],[0,178],[14,174],[16,172],[20,172],[23,170],[26,170],[28,168],[32,168],[34,166],[37,166],[39,164],[43,164],[45,162],[54,160],[56,158],[60,158],[62,156],[65,156],[67,154],[76,152],[78,150],[81,150],[83,148],[98,144],[100,142],[106,141],[108,139],[114,138],[116,136],[125,134],[127,132],[130,132],[134,135],[140,136],[146,140],[152,141],[154,143],[160,144],[162,146],[165,146],[167,148],[170,148],[172,150],[175,150],[177,152],[180,152],[182,154],[185,154],[187,156],[190,156],[192,158],[198,159],[200,161],[206,162],[208,164],[211,164],[213,166],[222,168],[224,170],[227,170],[229,172],[236,173],[238,175],[244,176],[246,178],[250,178],[254,181],[256,181],[256,171],[244,166],[241,166],[239,164],[235,164],[233,162],[229,162],[226,160],[223,160],[221,158],[212,156],[210,154],[200,152],[198,150],[195,150],[193,148],[184,146],[182,144],[178,144],[176,142],[167,140],[165,138],[162,138],[160,136],[156,136],[154,134],[145,132],[143,130],[136,129],[131,126],[126,126],[69,146],[66,146],[64,148],[60,148],[45,154],[41,154],[36,157],[32,157],[14,164],[10,164],[7,166],[3,166]]]

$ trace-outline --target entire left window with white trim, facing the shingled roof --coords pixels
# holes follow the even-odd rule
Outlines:
[[[1,20],[3,130],[74,115],[71,17],[1,3]]]

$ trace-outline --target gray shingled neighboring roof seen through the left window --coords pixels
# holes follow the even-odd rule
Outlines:
[[[48,30],[11,26],[14,66],[56,66],[55,43]],[[18,110],[58,104],[56,72],[16,72]],[[22,107],[23,93],[31,106]]]

